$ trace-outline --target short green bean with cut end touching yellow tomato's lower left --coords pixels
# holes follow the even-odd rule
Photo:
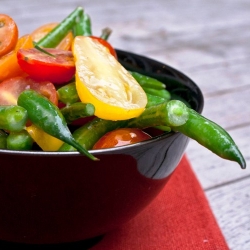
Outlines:
[[[95,107],[91,103],[76,102],[61,109],[62,115],[69,124],[79,118],[93,116]]]

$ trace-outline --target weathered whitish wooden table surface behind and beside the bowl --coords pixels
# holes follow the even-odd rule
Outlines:
[[[61,21],[81,5],[93,32],[110,27],[114,47],[143,54],[192,78],[205,97],[203,115],[233,136],[248,168],[191,141],[187,156],[230,249],[250,249],[250,2],[249,0],[1,0],[20,34]]]

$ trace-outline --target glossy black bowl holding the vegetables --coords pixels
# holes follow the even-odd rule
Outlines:
[[[203,96],[186,75],[166,64],[117,50],[129,70],[161,80],[199,113]],[[61,243],[103,235],[140,213],[163,189],[188,138],[163,133],[150,140],[78,152],[0,150],[0,240]]]

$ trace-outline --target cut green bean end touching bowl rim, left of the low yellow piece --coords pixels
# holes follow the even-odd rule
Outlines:
[[[26,130],[19,132],[10,132],[7,137],[7,149],[11,150],[30,150],[33,145],[33,139]]]

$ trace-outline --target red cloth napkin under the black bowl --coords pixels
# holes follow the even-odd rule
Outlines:
[[[91,248],[172,249],[229,249],[186,156],[153,203]]]

